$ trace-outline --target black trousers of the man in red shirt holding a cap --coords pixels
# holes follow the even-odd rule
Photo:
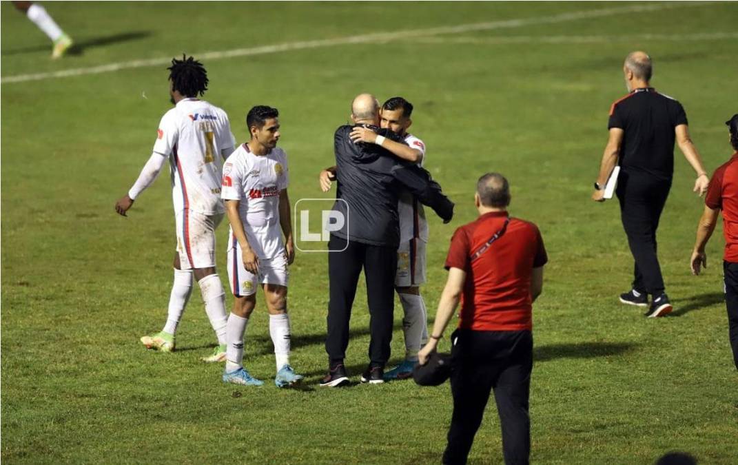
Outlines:
[[[531,331],[458,330],[451,354],[454,413],[444,464],[466,464],[491,390],[500,416],[505,463],[528,464],[531,419],[528,394],[533,368]]]

